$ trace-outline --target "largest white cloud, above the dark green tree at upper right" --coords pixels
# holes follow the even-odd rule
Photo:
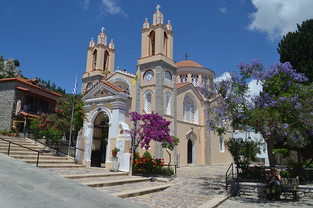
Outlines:
[[[248,28],[265,32],[270,41],[282,39],[297,23],[313,18],[313,0],[251,0],[256,12],[249,15]]]

